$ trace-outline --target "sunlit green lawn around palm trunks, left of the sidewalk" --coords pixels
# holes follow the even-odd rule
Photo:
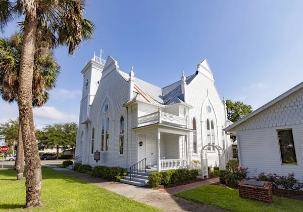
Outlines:
[[[25,182],[16,180],[16,171],[0,171],[0,211],[161,211],[93,184],[69,177],[51,168],[42,168],[41,202],[45,205],[23,210]]]

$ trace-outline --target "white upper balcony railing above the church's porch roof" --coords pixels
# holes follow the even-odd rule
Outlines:
[[[162,123],[162,122],[169,122],[169,123],[174,123],[174,124],[178,124],[181,126],[186,126],[186,118],[177,116],[177,115],[173,115],[173,114],[169,114],[169,113],[164,113],[160,110],[155,112],[155,113],[150,113],[147,115],[143,115],[138,117],[138,126],[142,126],[146,123]]]

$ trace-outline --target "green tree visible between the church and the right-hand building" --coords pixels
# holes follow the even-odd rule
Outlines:
[[[232,122],[243,118],[245,115],[248,115],[252,111],[251,105],[246,105],[243,102],[236,101],[233,102],[230,99],[226,100],[227,108],[227,118]],[[230,138],[235,141],[235,136],[230,136]]]

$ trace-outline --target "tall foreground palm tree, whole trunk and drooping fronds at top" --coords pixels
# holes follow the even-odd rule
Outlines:
[[[24,38],[19,71],[18,106],[22,139],[26,153],[25,207],[40,206],[41,164],[34,134],[32,111],[32,78],[36,38],[44,39],[41,49],[66,46],[73,55],[82,40],[93,36],[95,26],[83,18],[85,0],[0,0],[0,29],[24,14]],[[41,24],[42,33],[37,30]]]

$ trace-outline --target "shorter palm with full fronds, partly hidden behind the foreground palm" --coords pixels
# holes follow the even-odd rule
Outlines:
[[[39,41],[36,41],[38,46]],[[20,68],[23,33],[15,32],[9,38],[0,38],[0,95],[3,100],[18,102],[18,75]],[[48,101],[46,91],[56,86],[60,66],[53,56],[53,50],[35,52],[32,83],[32,106],[40,107]],[[20,121],[19,121],[20,122]],[[24,149],[21,134],[21,124],[18,130],[18,148],[16,158],[17,180],[23,179]]]

